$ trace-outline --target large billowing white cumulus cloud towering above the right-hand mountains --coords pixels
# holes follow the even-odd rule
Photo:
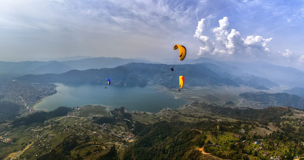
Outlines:
[[[223,17],[219,20],[219,27],[212,28],[217,45],[207,36],[206,20],[198,22],[194,37],[198,38],[203,47],[199,47],[199,56],[216,56],[225,58],[257,57],[267,58],[271,56],[270,47],[267,45],[273,38],[250,35],[242,38],[239,31],[230,29],[229,19]],[[222,48],[222,49],[219,49]]]

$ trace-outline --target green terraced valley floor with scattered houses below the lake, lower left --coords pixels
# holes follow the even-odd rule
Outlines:
[[[97,111],[97,112],[96,112]],[[98,114],[98,112],[100,114]],[[94,114],[93,114],[94,113]],[[14,153],[12,156],[19,156],[24,159],[30,157],[39,157],[41,154],[49,152],[60,144],[66,135],[75,135],[81,139],[89,137],[88,153],[83,153],[87,158],[98,157],[109,150],[111,146],[116,145],[117,150],[123,150],[132,143],[136,137],[131,130],[126,129],[124,123],[117,125],[102,124],[98,125],[93,122],[93,119],[108,115],[109,112],[104,107],[88,105],[84,107],[74,108],[67,116],[50,119],[44,122],[43,126],[25,129],[26,142],[12,142],[9,137],[15,137],[21,132],[8,133],[6,137],[0,137],[0,143],[6,143],[12,146],[24,146],[20,152]],[[23,135],[24,136],[24,135]],[[92,140],[92,142],[90,142]],[[23,153],[19,155],[19,153]],[[85,158],[86,159],[86,158]]]

